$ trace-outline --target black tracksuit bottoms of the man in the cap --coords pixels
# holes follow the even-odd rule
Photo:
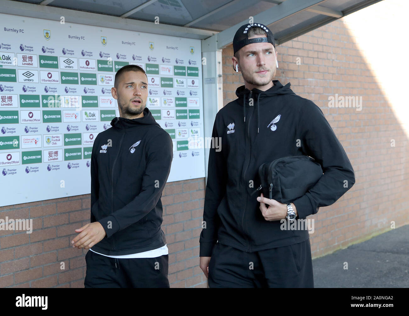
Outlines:
[[[217,243],[209,287],[314,287],[310,239],[252,253]]]

